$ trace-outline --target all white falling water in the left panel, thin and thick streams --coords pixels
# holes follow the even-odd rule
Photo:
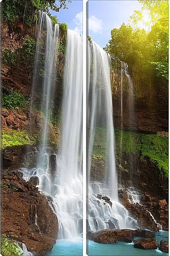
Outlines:
[[[23,178],[38,179],[41,193],[50,196],[53,211],[58,219],[58,238],[73,239],[82,233],[82,36],[67,30],[66,56],[63,75],[63,106],[61,145],[58,153],[48,148],[48,115],[52,111],[51,100],[55,87],[58,25],[53,29],[48,15],[39,12],[39,30],[35,59],[35,72],[31,108],[37,86],[36,77],[40,62],[44,64],[42,80],[42,113],[44,115],[42,143],[38,152],[28,152],[26,158],[35,156],[34,168],[21,168]],[[44,41],[45,40],[45,41]],[[43,43],[42,43],[43,42]],[[44,54],[42,56],[42,45]],[[36,209],[37,210],[37,209]],[[35,220],[37,216],[35,216]],[[35,223],[38,225],[38,223]],[[41,230],[40,230],[41,232]],[[57,233],[57,230],[56,230]]]

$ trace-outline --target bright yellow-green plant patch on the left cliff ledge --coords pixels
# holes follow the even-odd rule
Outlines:
[[[3,129],[2,132],[3,148],[14,145],[29,144],[27,131]]]

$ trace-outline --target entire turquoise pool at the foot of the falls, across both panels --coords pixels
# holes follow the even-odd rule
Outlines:
[[[137,239],[138,237],[135,237]],[[168,232],[161,231],[156,235],[156,240],[168,242]],[[99,244],[87,240],[87,254],[89,256],[167,256],[168,253],[159,250],[143,250],[134,248],[133,243],[119,242],[118,244]],[[57,240],[53,250],[48,256],[82,256],[83,244],[82,239],[76,241]]]

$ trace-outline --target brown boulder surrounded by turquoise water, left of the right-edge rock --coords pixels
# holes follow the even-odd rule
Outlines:
[[[134,247],[140,248],[140,249],[145,249],[145,250],[146,249],[157,249],[158,243],[153,238],[141,238],[141,239],[135,240]]]

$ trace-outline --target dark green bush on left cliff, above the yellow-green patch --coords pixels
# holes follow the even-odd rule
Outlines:
[[[26,97],[18,92],[3,91],[3,107],[7,109],[24,108],[26,106]]]

